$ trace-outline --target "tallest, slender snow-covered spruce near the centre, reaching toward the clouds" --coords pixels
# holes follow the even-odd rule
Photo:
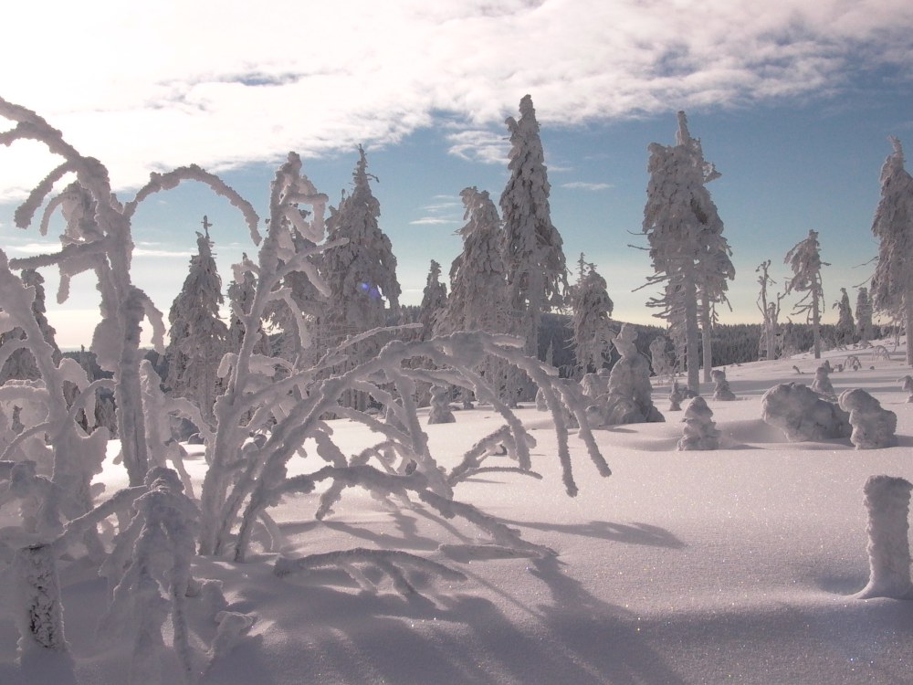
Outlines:
[[[567,266],[561,234],[551,224],[548,174],[539,121],[529,95],[519,102],[519,120],[509,117],[510,178],[501,194],[504,261],[515,332],[526,338],[526,352],[539,357],[543,311],[563,304]]]

